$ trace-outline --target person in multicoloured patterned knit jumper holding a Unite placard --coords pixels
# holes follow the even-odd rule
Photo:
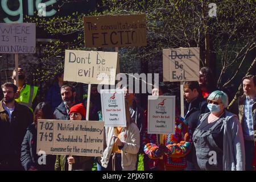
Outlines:
[[[163,94],[168,96],[169,93]],[[175,118],[175,134],[164,134],[163,143],[159,143],[159,135],[150,135],[144,140],[149,142],[144,145],[144,153],[148,158],[154,160],[154,166],[148,166],[154,170],[182,170],[187,167],[185,156],[191,150],[191,133],[184,119]],[[163,156],[163,159],[160,159]]]

